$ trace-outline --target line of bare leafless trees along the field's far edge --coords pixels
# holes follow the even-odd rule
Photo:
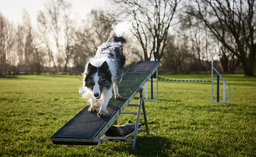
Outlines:
[[[255,0],[109,0],[76,20],[72,3],[50,0],[32,25],[0,12],[0,76],[12,73],[82,72],[112,32],[111,24],[133,21],[127,64],[161,61],[162,73],[207,73],[211,59],[224,73],[254,75]]]

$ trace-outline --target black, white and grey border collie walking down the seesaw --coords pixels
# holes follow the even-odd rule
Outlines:
[[[112,24],[114,33],[97,50],[95,57],[88,60],[83,73],[82,98],[90,102],[89,112],[99,110],[99,117],[106,117],[106,107],[114,89],[115,99],[119,95],[117,85],[122,80],[125,56],[123,48],[128,43],[131,22]]]

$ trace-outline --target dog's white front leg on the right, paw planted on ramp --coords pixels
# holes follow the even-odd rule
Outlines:
[[[104,91],[104,94],[101,94],[101,95],[103,96],[103,99],[102,99],[102,104],[101,104],[98,116],[100,118],[105,118],[106,117],[106,108],[107,108],[109,99],[112,96],[112,88],[109,89],[109,90]]]

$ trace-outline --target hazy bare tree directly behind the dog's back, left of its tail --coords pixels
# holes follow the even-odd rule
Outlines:
[[[74,65],[83,69],[86,59],[94,56],[98,47],[108,40],[115,23],[114,14],[103,10],[92,10],[87,21],[76,31],[76,45],[73,54]]]

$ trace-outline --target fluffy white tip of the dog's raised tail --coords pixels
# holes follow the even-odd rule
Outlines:
[[[124,21],[117,24],[112,24],[112,27],[114,29],[115,35],[118,38],[123,38],[124,40],[129,39],[130,34],[130,28],[132,27],[132,22],[130,21]]]

